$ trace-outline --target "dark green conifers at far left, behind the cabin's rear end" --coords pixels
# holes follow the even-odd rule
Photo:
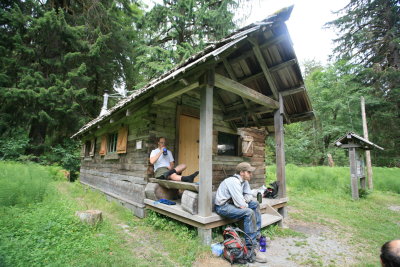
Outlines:
[[[0,154],[16,157],[3,151],[15,147],[13,129],[29,139],[15,154],[60,154],[56,146],[67,149],[63,140],[98,115],[105,89],[134,85],[140,10],[131,1],[1,5],[0,137],[11,141]]]

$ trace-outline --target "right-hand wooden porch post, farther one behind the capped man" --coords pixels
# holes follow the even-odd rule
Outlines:
[[[275,128],[275,152],[276,152],[276,179],[279,183],[278,197],[286,197],[286,173],[285,173],[285,146],[283,133],[283,98],[279,94],[279,109],[274,113]],[[285,217],[286,207],[278,209],[278,212]]]

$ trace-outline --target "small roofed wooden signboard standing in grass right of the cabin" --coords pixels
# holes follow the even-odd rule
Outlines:
[[[359,181],[361,188],[366,190],[364,151],[374,148],[383,150],[383,148],[353,132],[349,132],[336,140],[335,146],[349,150],[351,195],[353,199],[359,199]]]

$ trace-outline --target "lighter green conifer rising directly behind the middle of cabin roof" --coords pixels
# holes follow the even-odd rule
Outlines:
[[[151,80],[231,32],[240,1],[173,0],[156,4],[138,27],[144,41],[136,67]]]

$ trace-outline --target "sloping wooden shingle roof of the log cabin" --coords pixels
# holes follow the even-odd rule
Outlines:
[[[243,27],[226,38],[207,46],[189,57],[185,62],[152,80],[141,89],[120,100],[105,114],[84,125],[72,138],[89,131],[111,115],[127,108],[135,99],[150,93],[153,89],[181,80],[185,75],[202,65],[215,64],[216,74],[228,77],[242,85],[275,100],[283,96],[285,123],[309,120],[314,117],[311,102],[304,87],[300,67],[285,25],[292,7],[282,9],[266,19]],[[226,91],[217,92],[220,103],[238,127],[273,127],[273,110],[254,104],[249,108],[240,96]],[[241,102],[243,101],[243,102]],[[232,115],[232,111],[233,112]],[[249,111],[249,112],[248,112]],[[248,113],[247,113],[248,112]],[[245,114],[249,118],[236,116]]]

